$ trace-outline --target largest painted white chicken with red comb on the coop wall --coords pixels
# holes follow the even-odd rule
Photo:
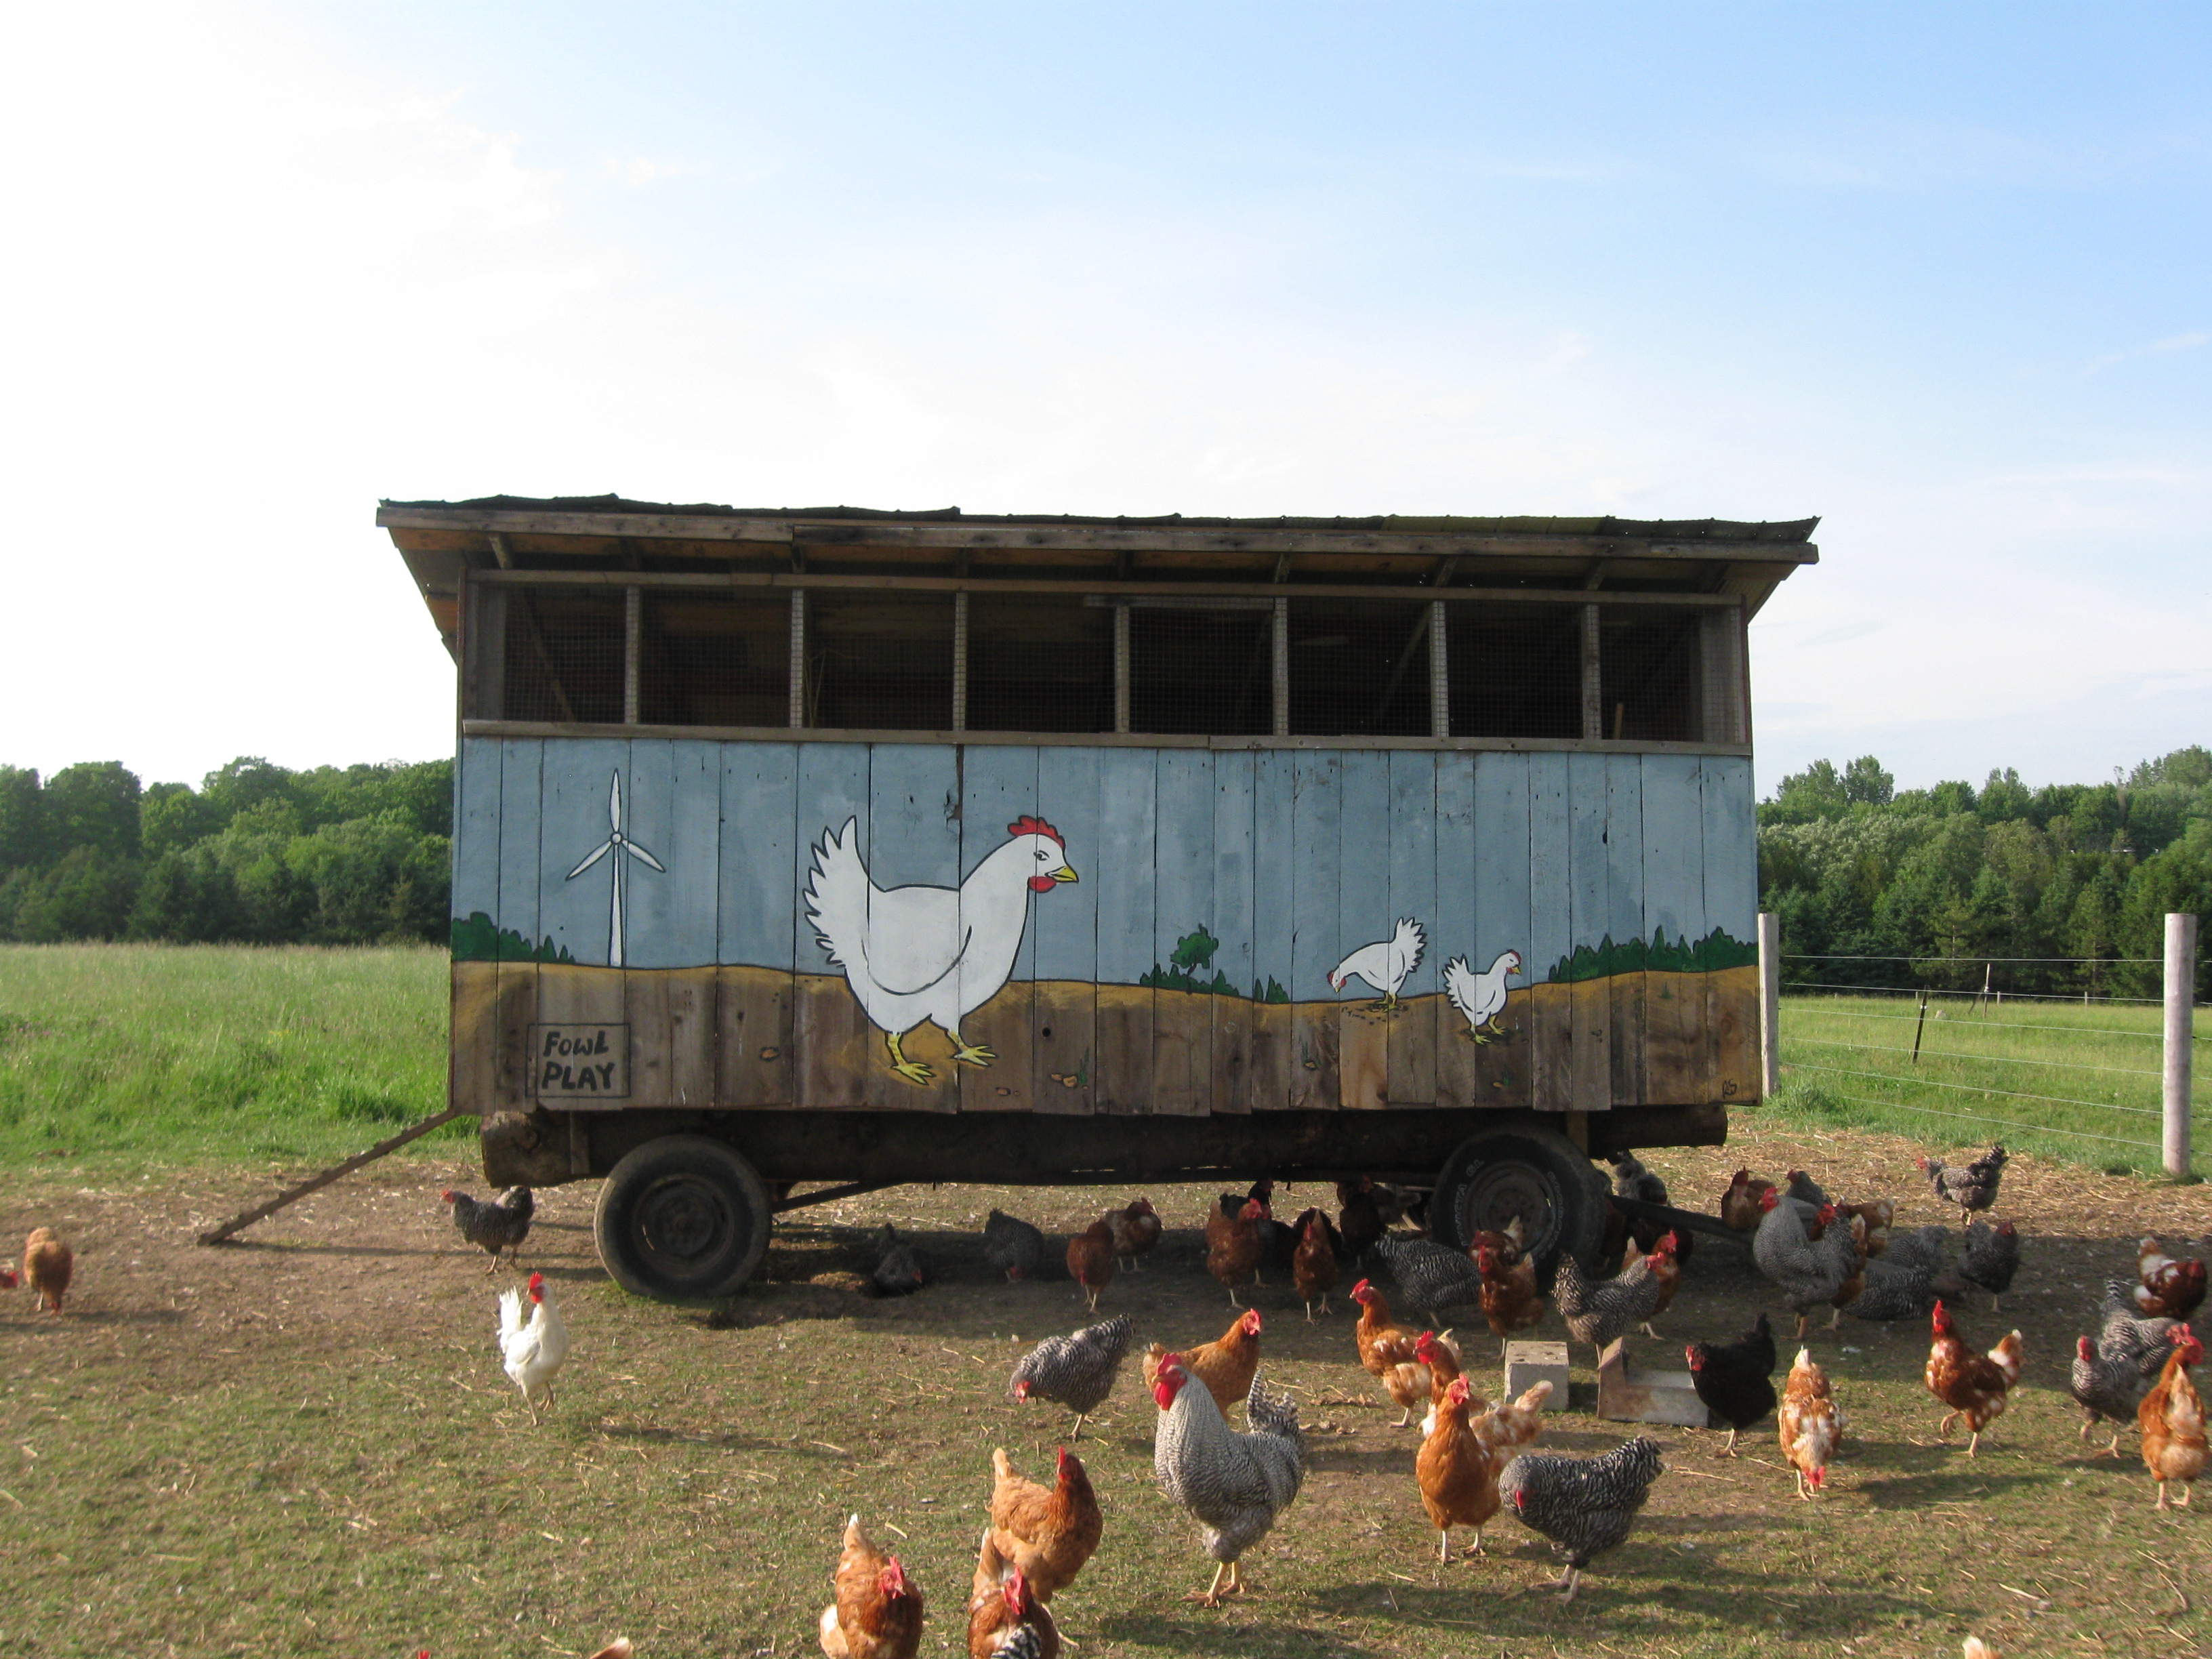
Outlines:
[[[998,1055],[969,1044],[960,1022],[995,998],[1013,973],[1029,927],[1029,896],[1075,880],[1066,843],[1044,818],[1006,825],[1013,836],[958,887],[891,887],[869,880],[858,818],[814,847],[807,920],[869,1022],[883,1031],[891,1071],[909,1084],[936,1073],[907,1060],[898,1042],[920,1024],[953,1040],[953,1060],[989,1066]]]

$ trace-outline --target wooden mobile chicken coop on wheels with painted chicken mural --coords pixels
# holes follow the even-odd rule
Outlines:
[[[801,1181],[1374,1172],[1586,1254],[1593,1155],[1759,1093],[1814,520],[376,522],[460,666],[453,1104],[635,1292]]]

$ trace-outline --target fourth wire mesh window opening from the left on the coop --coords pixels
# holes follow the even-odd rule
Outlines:
[[[1082,597],[969,595],[973,732],[1110,732],[1113,611]]]

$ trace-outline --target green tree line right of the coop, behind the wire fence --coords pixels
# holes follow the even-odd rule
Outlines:
[[[2121,958],[2159,958],[2168,911],[2212,916],[2212,750],[2039,790],[1814,761],[1759,805],[1759,907],[1790,982],[2154,998],[2159,962]]]

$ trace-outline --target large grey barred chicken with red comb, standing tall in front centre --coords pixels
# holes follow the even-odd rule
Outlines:
[[[1175,1354],[1161,1363],[1152,1398],[1159,1402],[1152,1473],[1199,1522],[1206,1553],[1219,1562],[1214,1582],[1192,1599],[1219,1606],[1223,1595],[1245,1588],[1239,1559],[1267,1535],[1305,1480],[1298,1407],[1254,1376],[1245,1396],[1252,1429],[1234,1433],[1214,1396],[1190,1387],[1190,1371]]]

